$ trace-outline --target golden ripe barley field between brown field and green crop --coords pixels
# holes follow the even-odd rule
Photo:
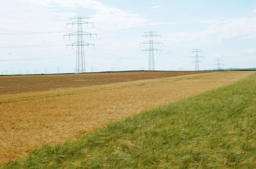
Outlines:
[[[0,162],[28,154],[127,117],[255,72],[207,72],[130,82],[0,94]],[[143,79],[143,78],[142,78]]]

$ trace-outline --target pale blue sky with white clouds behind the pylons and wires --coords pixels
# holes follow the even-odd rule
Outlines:
[[[201,49],[199,70],[256,68],[254,0],[8,0],[0,6],[0,75],[74,73],[77,31],[66,25],[88,17],[83,31],[86,72],[148,70],[147,31],[154,41],[155,70],[193,71],[192,49]]]

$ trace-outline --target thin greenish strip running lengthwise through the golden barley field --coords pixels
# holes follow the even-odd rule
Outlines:
[[[150,84],[157,84],[157,83],[166,83],[166,82],[174,82],[174,81],[180,81],[184,79],[195,79],[205,76],[213,76],[216,74],[225,74],[230,72],[218,72],[218,73],[207,73],[206,75],[192,75],[191,77],[183,77],[183,78],[171,78],[172,80],[169,80],[170,78],[165,78],[164,80],[154,80],[150,82],[144,82],[144,83],[136,83],[131,85],[123,85],[120,87],[102,87],[97,89],[82,89],[82,90],[76,90],[76,91],[69,91],[69,92],[58,92],[58,93],[51,93],[51,94],[41,94],[41,95],[33,95],[33,96],[24,96],[19,98],[9,98],[6,100],[0,100],[0,104],[3,103],[11,103],[11,102],[17,102],[17,101],[28,101],[33,99],[41,99],[41,98],[49,98],[49,97],[58,97],[58,96],[65,96],[65,95],[73,95],[73,94],[81,94],[81,93],[88,93],[88,92],[96,92],[96,91],[103,91],[103,90],[112,90],[112,89],[118,89],[118,88],[125,88],[125,87],[131,87],[134,85],[142,86],[142,85],[150,85]],[[1,98],[1,97],[0,97]]]

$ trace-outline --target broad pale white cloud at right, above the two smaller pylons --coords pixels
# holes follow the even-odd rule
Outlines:
[[[224,39],[256,37],[256,18],[212,20],[202,31],[168,34],[176,42],[205,43],[222,42]]]

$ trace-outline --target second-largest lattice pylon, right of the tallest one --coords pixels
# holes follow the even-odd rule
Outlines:
[[[142,53],[142,51],[149,51],[148,70],[149,70],[149,71],[150,71],[150,70],[154,71],[154,70],[155,70],[154,51],[158,51],[158,50],[160,50],[160,49],[154,48],[153,44],[154,44],[154,43],[158,43],[158,46],[159,46],[159,44],[162,43],[162,42],[155,42],[155,41],[153,41],[153,37],[157,38],[157,36],[160,36],[160,38],[161,38],[161,35],[153,34],[153,33],[157,33],[157,32],[154,32],[154,31],[149,31],[149,32],[144,32],[144,33],[148,33],[148,34],[145,34],[145,35],[141,36],[141,39],[142,39],[143,37],[146,37],[146,38],[147,38],[147,36],[149,36],[149,41],[143,42],[143,43],[140,43],[140,44],[143,44],[143,45],[149,44],[149,48],[148,48],[148,49],[141,50],[141,53]],[[162,44],[163,44],[163,43],[162,43]],[[161,50],[160,50],[160,51],[161,51]]]

